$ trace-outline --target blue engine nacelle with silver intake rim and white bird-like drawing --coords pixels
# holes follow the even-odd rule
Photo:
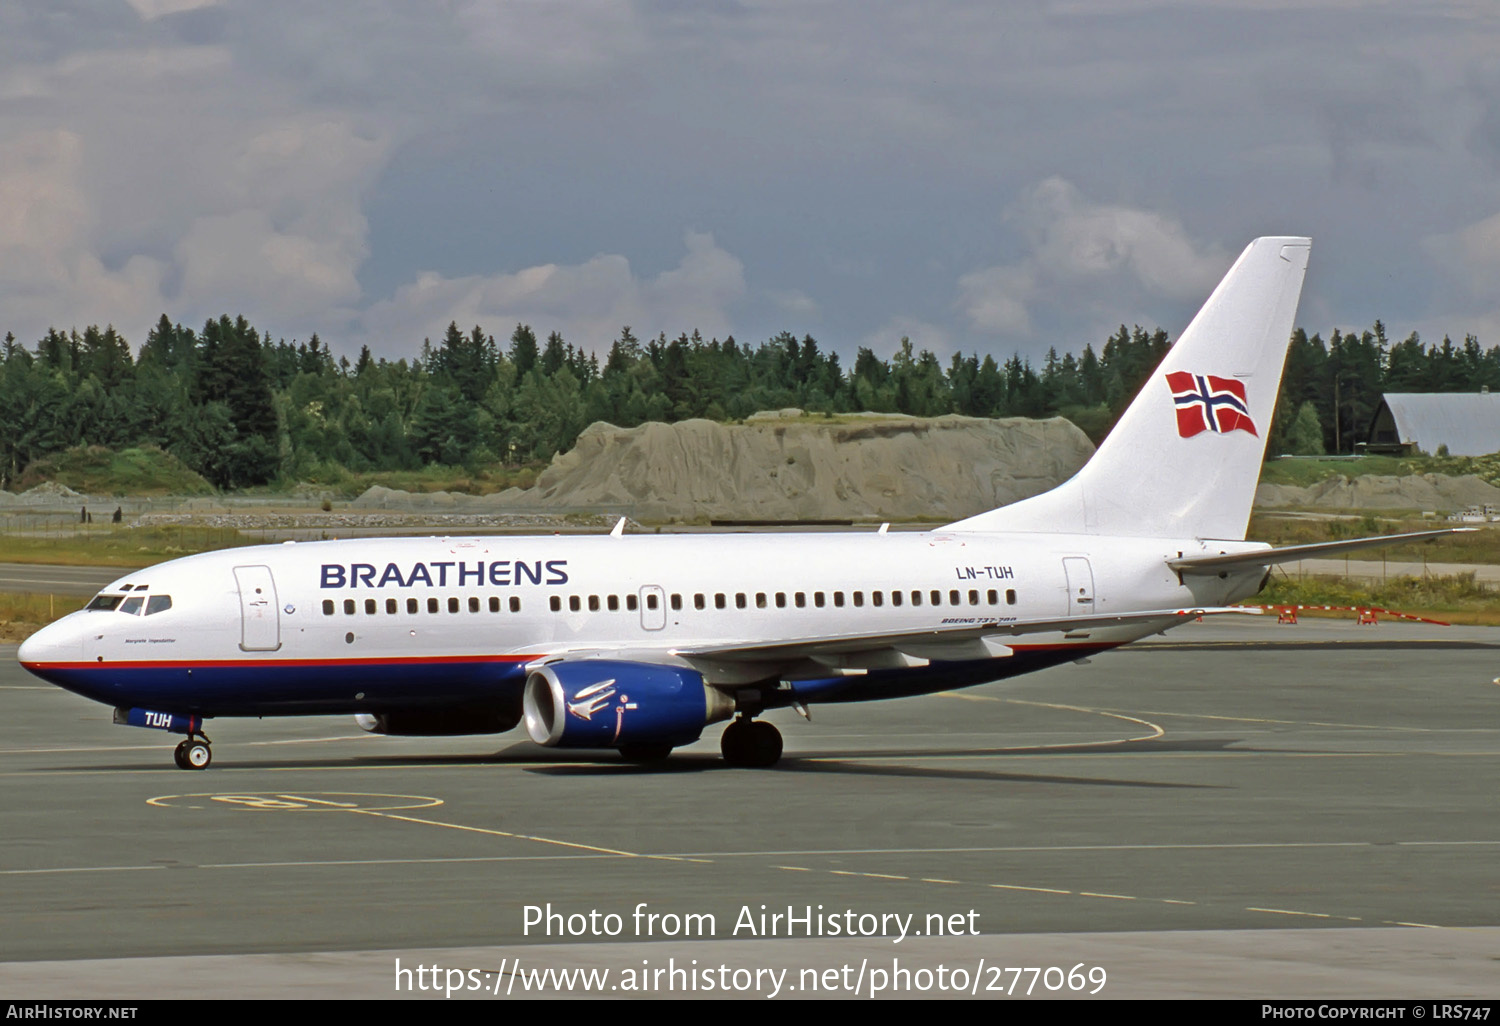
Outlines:
[[[561,748],[692,744],[734,716],[735,702],[681,666],[584,658],[526,676],[526,734]]]

